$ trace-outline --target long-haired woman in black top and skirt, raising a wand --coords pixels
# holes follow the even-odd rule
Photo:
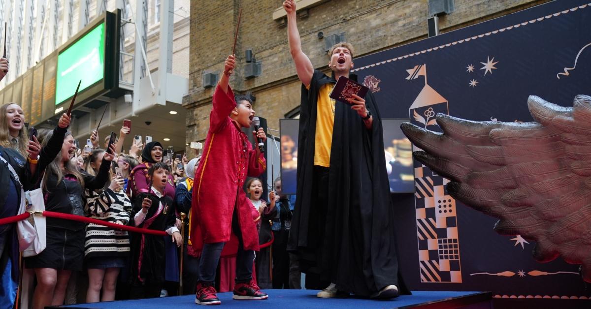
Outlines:
[[[70,160],[75,146],[72,134],[67,132],[69,123],[70,116],[64,113],[56,129],[40,132],[43,149],[34,176],[40,181],[33,188],[41,187],[46,193],[46,210],[84,216],[84,190],[96,190],[105,185],[115,155],[103,156],[96,176],[80,171]],[[82,270],[85,226],[72,220],[46,219],[46,249],[24,259],[25,267],[34,269],[37,277],[33,308],[64,303],[72,271]]]

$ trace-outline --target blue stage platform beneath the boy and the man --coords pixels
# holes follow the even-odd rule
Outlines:
[[[388,301],[362,298],[318,298],[314,290],[265,290],[268,300],[232,300],[232,293],[217,294],[223,308],[470,308],[492,309],[490,292],[431,292],[413,291]],[[194,295],[150,298],[145,300],[111,301],[95,304],[77,304],[59,308],[197,308]],[[199,306],[201,308],[202,306]],[[58,308],[58,307],[52,307]]]

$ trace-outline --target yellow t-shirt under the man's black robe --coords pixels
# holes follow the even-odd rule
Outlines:
[[[329,97],[334,83],[320,86],[316,108],[316,136],[314,141],[314,165],[330,167],[330,147],[335,125],[335,100]]]

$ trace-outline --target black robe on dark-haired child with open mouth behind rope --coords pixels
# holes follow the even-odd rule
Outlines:
[[[154,193],[142,190],[135,199],[129,225],[135,226],[135,214],[142,211],[142,201],[148,197],[152,206],[148,209],[144,221],[138,225],[140,229],[165,231],[174,226],[176,222],[173,199],[169,196],[158,197]],[[162,209],[159,204],[162,203]],[[164,271],[166,265],[164,238],[171,236],[158,236],[142,233],[131,233],[131,265],[129,281],[134,285],[161,284],[164,283]]]

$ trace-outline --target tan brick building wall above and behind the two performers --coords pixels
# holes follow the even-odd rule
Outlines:
[[[440,32],[456,30],[488,19],[520,11],[548,0],[456,0],[456,11],[440,17]],[[209,126],[213,88],[202,87],[203,71],[220,73],[232,51],[238,12],[242,22],[236,44],[238,64],[230,79],[236,93],[256,96],[257,115],[267,118],[269,128],[300,104],[300,82],[287,45],[287,29],[272,19],[280,0],[191,0],[189,95],[187,143],[202,141]],[[301,14],[301,13],[300,13]],[[346,32],[355,57],[375,53],[427,37],[426,0],[331,0],[298,17],[302,47],[316,69],[326,70],[329,61],[324,41],[317,37]],[[244,50],[252,49],[262,62],[262,74],[243,78]],[[218,75],[219,76],[219,75]]]

